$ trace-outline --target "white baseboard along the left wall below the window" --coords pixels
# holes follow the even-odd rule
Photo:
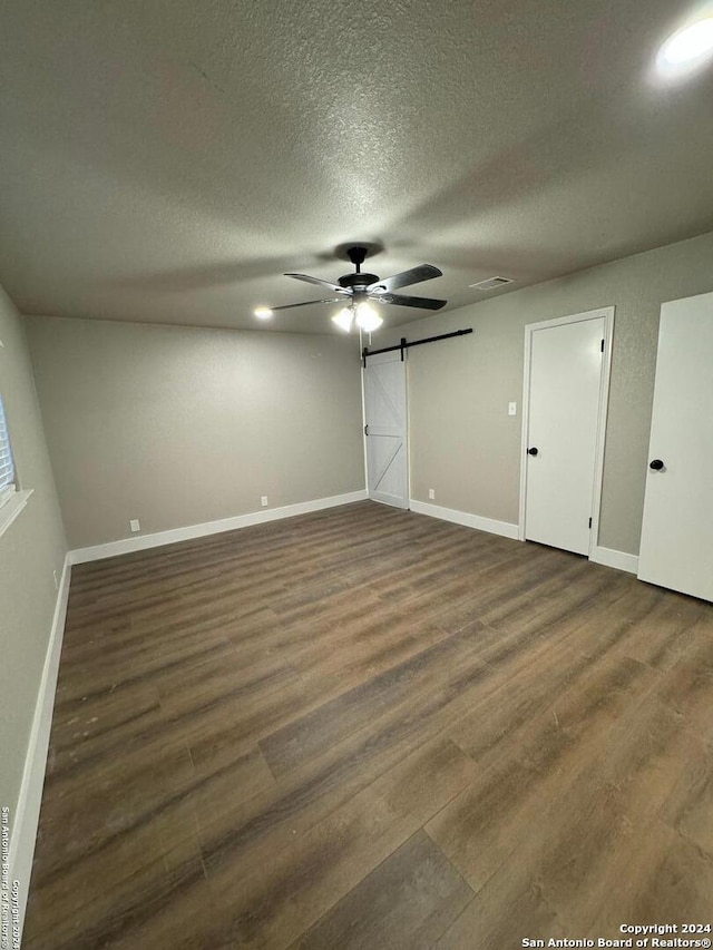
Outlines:
[[[18,881],[20,885],[18,903],[20,936],[25,921],[30,874],[32,872],[32,859],[35,856],[35,843],[37,841],[37,827],[40,817],[40,805],[42,803],[49,734],[52,725],[52,713],[55,711],[55,693],[57,692],[59,655],[65,635],[70,574],[71,567],[69,556],[67,556],[59,582],[52,629],[47,645],[42,679],[37,694],[35,717],[30,731],[27,757],[25,760],[22,784],[20,785],[17,811],[12,822],[12,838],[10,839],[8,863],[10,882]],[[10,941],[10,946],[13,946],[12,941]]]

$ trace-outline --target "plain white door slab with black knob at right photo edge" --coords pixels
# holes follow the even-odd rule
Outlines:
[[[713,600],[713,294],[661,308],[648,452],[638,577]]]

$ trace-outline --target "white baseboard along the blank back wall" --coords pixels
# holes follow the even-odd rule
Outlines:
[[[186,528],[172,528],[168,531],[157,531],[154,535],[138,535],[135,538],[124,538],[120,541],[109,541],[106,545],[94,545],[90,548],[77,548],[69,551],[70,564],[113,558],[117,555],[128,555],[147,548],[159,548],[176,541],[191,541],[207,535],[219,535],[222,531],[235,531],[237,528],[248,528],[252,525],[263,525],[265,521],[276,521],[280,518],[293,518],[295,515],[307,515],[324,508],[336,508],[339,505],[351,505],[353,501],[364,501],[369,498],[365,489],[350,491],[346,494],[334,494],[331,498],[316,498],[314,501],[300,501],[296,505],[285,505],[283,508],[266,508],[251,511],[250,515],[236,515],[233,518],[222,518],[218,521],[205,521],[202,525],[189,525]]]

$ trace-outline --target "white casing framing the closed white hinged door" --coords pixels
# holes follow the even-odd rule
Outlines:
[[[583,313],[573,313],[553,320],[541,320],[528,323],[525,327],[525,360],[522,376],[522,430],[520,435],[520,511],[518,521],[518,538],[525,540],[525,517],[527,500],[527,435],[530,414],[530,373],[533,360],[533,336],[538,330],[564,326],[568,323],[582,323],[587,320],[604,317],[604,353],[602,358],[602,374],[599,376],[599,405],[597,411],[597,434],[594,460],[594,481],[592,487],[592,530],[589,532],[589,560],[594,560],[599,543],[599,515],[602,509],[602,482],[604,476],[604,443],[606,439],[606,417],[609,403],[609,380],[612,376],[612,350],[614,342],[614,306],[598,307]]]

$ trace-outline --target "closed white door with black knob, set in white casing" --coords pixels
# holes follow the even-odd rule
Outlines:
[[[529,330],[525,538],[586,555],[598,507],[605,317]]]

